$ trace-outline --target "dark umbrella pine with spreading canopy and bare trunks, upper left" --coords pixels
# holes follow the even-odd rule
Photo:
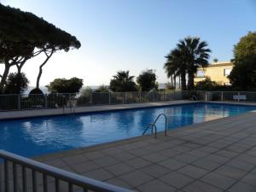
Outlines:
[[[3,91],[6,84],[10,67],[16,66],[20,73],[27,60],[44,53],[46,59],[39,68],[38,87],[42,67],[55,51],[79,49],[81,46],[77,38],[43,18],[20,9],[3,6],[1,3],[0,26],[0,64],[5,67],[0,82],[0,91]]]

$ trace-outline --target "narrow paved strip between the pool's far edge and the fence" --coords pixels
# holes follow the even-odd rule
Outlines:
[[[17,111],[2,111],[0,112],[1,119],[23,119],[41,116],[54,116],[70,113],[92,113],[100,111],[114,111],[131,108],[152,108],[166,105],[190,103],[191,101],[172,101],[172,102],[143,102],[143,103],[131,103],[131,104],[118,104],[118,105],[97,105],[74,108],[74,111],[70,108],[49,108],[49,109],[31,109],[31,110],[17,110]]]

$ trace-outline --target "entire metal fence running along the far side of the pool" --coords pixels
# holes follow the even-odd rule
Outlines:
[[[193,97],[194,96],[194,97]],[[93,105],[128,104],[141,102],[169,102],[191,100],[216,102],[256,102],[256,92],[247,91],[150,91],[150,92],[92,92],[83,95],[0,95],[0,111],[38,108],[69,108]]]

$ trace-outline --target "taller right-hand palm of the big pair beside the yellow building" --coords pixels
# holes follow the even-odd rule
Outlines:
[[[200,38],[184,38],[177,44],[177,49],[183,54],[183,62],[186,64],[188,73],[188,90],[194,89],[195,73],[198,67],[207,67],[211,49],[207,48],[208,44],[201,41]]]

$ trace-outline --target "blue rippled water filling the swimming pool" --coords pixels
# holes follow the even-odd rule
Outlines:
[[[192,103],[102,113],[0,121],[0,148],[31,157],[142,135],[159,113],[168,129],[255,110],[242,105]],[[164,119],[157,123],[164,130]]]

